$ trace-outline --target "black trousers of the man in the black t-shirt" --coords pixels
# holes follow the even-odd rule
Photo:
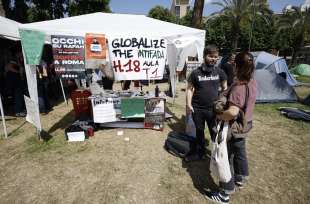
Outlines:
[[[196,153],[203,156],[205,154],[205,123],[207,122],[211,138],[215,138],[215,114],[212,108],[194,108],[193,120],[196,127]]]

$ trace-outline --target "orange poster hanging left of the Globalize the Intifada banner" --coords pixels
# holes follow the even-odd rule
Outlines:
[[[98,69],[106,63],[106,38],[103,34],[86,33],[85,36],[85,67]]]

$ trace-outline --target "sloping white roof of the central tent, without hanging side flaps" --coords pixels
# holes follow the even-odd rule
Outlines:
[[[144,15],[92,13],[50,21],[23,24],[23,28],[41,30],[47,35],[78,35],[103,33],[109,35],[143,34],[172,39],[197,35],[204,39],[205,31],[168,23]]]

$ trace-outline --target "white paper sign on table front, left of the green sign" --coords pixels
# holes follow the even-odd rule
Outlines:
[[[92,98],[93,117],[95,123],[117,121],[113,98]]]

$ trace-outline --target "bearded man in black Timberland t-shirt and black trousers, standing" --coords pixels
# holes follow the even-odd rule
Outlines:
[[[186,111],[192,114],[196,126],[195,154],[185,158],[188,160],[202,159],[205,154],[205,122],[211,138],[215,138],[213,102],[218,99],[219,90],[227,88],[226,74],[215,66],[219,57],[218,48],[208,45],[203,54],[204,63],[188,77]]]

